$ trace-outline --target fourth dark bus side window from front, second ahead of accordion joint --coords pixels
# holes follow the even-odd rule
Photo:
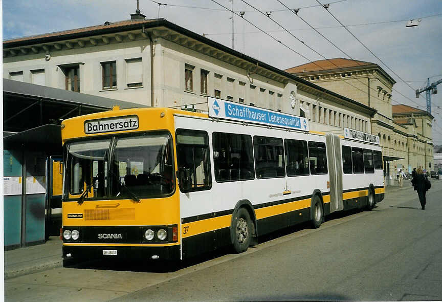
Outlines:
[[[285,166],[287,176],[308,175],[307,142],[294,139],[284,140]]]

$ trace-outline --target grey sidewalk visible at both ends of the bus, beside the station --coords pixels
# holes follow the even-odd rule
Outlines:
[[[411,188],[411,182],[404,180],[403,187],[387,186],[385,191],[388,194]],[[58,236],[50,237],[45,244],[5,251],[5,280],[61,266],[61,240]]]

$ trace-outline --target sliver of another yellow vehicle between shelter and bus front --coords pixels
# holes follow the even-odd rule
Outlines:
[[[46,239],[60,234],[61,195],[63,189],[63,160],[50,156],[48,161],[48,189],[46,195]]]

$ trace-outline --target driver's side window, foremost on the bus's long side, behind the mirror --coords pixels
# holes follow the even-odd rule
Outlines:
[[[184,171],[186,177],[180,181],[185,182],[183,192],[201,191],[210,189],[209,137],[205,131],[176,130],[176,157],[178,170]]]

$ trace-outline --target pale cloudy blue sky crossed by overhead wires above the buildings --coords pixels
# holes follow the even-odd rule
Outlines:
[[[227,9],[233,7],[235,50],[282,70],[336,57],[377,63],[396,81],[393,104],[426,110],[426,93],[417,99],[415,90],[425,87],[427,78],[442,79],[442,0],[327,1],[140,0],[139,6],[147,19],[166,18],[231,48]],[[328,10],[321,4],[329,4]],[[2,5],[4,40],[125,20],[137,8],[136,0],[3,0]],[[298,15],[285,6],[299,8]],[[419,25],[407,28],[411,19]],[[442,145],[442,84],[438,89],[431,95],[431,114],[433,141]]]

